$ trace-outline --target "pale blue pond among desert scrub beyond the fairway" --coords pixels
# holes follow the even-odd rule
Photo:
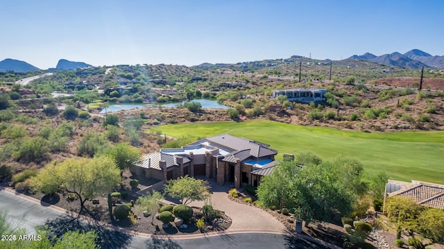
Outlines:
[[[202,108],[205,109],[229,109],[230,107],[227,107],[223,104],[219,104],[216,100],[205,100],[205,99],[201,99],[201,100],[192,100],[195,102],[199,102],[200,104],[202,104]],[[185,103],[182,102],[182,104]],[[161,105],[162,107],[176,107],[178,104],[180,103],[167,103],[167,104],[110,104],[109,107],[106,108],[106,111],[113,112],[113,111],[121,111],[121,110],[131,110],[131,109],[137,109],[137,108],[142,108],[142,107],[151,107],[151,106],[159,106]],[[105,109],[102,109],[100,111],[100,113],[105,113]]]

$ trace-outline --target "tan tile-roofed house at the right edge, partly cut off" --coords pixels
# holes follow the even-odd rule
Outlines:
[[[407,196],[420,205],[444,209],[444,185],[420,181],[411,181],[409,183],[388,180],[386,196]],[[385,201],[384,198],[384,205]]]

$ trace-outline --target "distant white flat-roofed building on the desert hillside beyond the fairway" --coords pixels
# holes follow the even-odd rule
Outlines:
[[[273,91],[273,98],[285,95],[289,101],[299,102],[317,102],[325,101],[325,93],[327,89],[289,89],[289,90],[275,90]]]

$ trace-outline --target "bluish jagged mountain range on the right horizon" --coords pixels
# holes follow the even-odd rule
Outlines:
[[[398,52],[386,55],[373,55],[365,53],[364,55],[353,55],[347,59],[365,59],[387,66],[400,66],[403,68],[420,69],[425,68],[444,68],[444,55],[430,55],[419,49],[412,49],[407,53]]]

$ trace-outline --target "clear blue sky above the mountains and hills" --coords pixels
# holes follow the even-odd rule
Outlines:
[[[0,0],[0,60],[235,63],[344,59],[413,48],[444,55],[444,1]]]

